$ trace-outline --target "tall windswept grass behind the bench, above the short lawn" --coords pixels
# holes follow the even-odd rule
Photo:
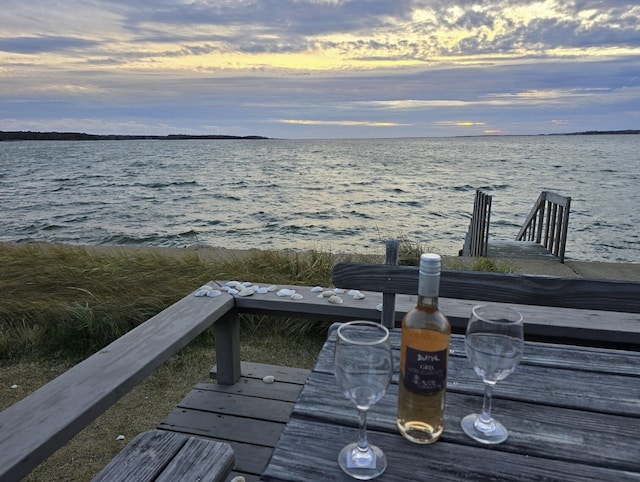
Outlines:
[[[319,252],[162,253],[0,245],[0,360],[84,358],[211,279],[328,285],[335,264]],[[273,326],[304,335],[311,325]]]

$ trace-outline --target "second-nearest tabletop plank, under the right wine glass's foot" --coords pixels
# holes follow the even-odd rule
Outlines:
[[[450,376],[454,377],[453,374]],[[456,380],[447,386],[445,432],[442,439],[465,444],[468,438],[460,428],[460,420],[468,413],[478,412],[482,408],[482,386],[479,380],[475,384],[473,380]],[[494,399],[494,415],[510,431],[505,450],[535,456],[562,457],[585,463],[600,458],[606,460],[608,465],[619,468],[638,467],[635,453],[640,444],[639,418],[575,407],[559,408],[566,403],[562,400],[558,404],[549,403],[553,398],[549,391],[544,400],[526,400],[522,396],[522,385],[508,385],[508,381],[503,386],[498,384]],[[535,391],[541,383],[529,383],[528,386]],[[513,394],[516,396],[512,396]],[[574,394],[574,399],[579,396],[582,395]],[[565,400],[567,398],[566,395],[562,397]],[[382,400],[370,409],[367,426],[372,430],[397,434],[397,400],[398,386],[392,384]],[[293,414],[294,417],[313,418],[331,424],[357,426],[353,404],[349,400],[342,400],[335,378],[329,374],[314,374],[309,378]],[[580,444],[567,452],[565,444],[568,440],[580,441]],[[607,441],[607,447],[603,448],[604,441]]]

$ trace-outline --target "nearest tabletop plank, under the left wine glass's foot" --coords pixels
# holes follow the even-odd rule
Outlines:
[[[356,428],[292,419],[262,478],[268,481],[353,480],[339,468],[337,455],[342,446],[357,440],[357,437]],[[486,450],[477,445],[453,446],[440,441],[424,446],[412,444],[397,434],[377,431],[370,432],[369,440],[387,455],[389,466],[383,475],[385,481],[638,480],[637,472],[604,469],[595,465],[513,454],[501,450]],[[417,464],[416,461],[420,460],[424,463]]]

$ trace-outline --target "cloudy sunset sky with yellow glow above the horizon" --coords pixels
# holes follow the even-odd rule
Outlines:
[[[640,129],[638,0],[4,0],[0,130]]]

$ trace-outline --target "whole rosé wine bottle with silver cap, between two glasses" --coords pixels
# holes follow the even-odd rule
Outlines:
[[[420,257],[418,304],[402,320],[398,429],[411,442],[430,444],[444,427],[451,325],[438,309],[440,256]]]

